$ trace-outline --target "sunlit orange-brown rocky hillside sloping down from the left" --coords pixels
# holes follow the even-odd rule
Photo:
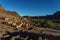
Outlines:
[[[30,27],[30,22],[21,16],[19,16],[16,12],[12,11],[6,11],[1,5],[0,5],[0,23],[6,25],[15,27],[17,29],[21,27]],[[1,21],[2,20],[2,21]]]

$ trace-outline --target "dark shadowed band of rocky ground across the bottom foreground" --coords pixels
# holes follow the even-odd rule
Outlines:
[[[9,35],[8,37],[4,37],[6,35]],[[17,37],[18,36],[18,37]],[[13,38],[14,37],[14,38]],[[47,35],[47,34],[35,34],[30,32],[7,32],[7,34],[4,34],[1,40],[60,40],[60,36],[53,36],[53,35]]]

